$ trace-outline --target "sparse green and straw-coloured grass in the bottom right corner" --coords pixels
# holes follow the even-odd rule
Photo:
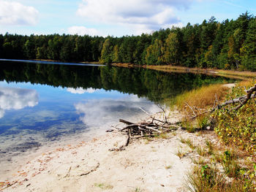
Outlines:
[[[187,174],[186,185],[189,191],[256,191],[256,162],[252,157],[244,155],[240,150],[214,147],[208,140],[204,147],[196,147],[200,158],[192,159],[196,166]],[[241,166],[241,160],[244,160],[244,166]]]

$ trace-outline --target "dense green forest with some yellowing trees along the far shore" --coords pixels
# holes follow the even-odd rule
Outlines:
[[[256,71],[256,17],[216,18],[124,37],[0,34],[0,58]]]

